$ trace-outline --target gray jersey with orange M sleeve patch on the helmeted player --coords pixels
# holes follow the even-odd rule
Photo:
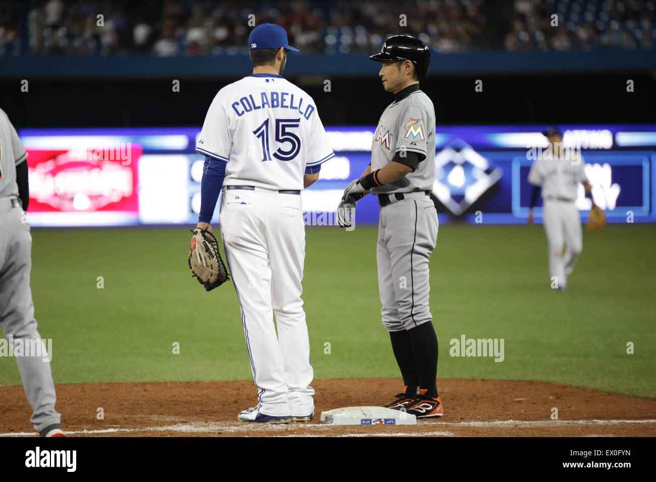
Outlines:
[[[371,144],[371,171],[382,169],[403,150],[424,154],[414,172],[373,188],[374,194],[432,191],[435,182],[435,108],[421,90],[392,102],[380,116]]]

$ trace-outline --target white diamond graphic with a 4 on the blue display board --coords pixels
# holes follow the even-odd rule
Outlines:
[[[457,139],[435,155],[433,194],[459,216],[501,179],[502,174],[501,167]]]

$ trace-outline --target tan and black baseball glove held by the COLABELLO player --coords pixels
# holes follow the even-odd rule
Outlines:
[[[216,237],[206,230],[196,228],[192,237],[189,267],[192,269],[192,277],[205,287],[205,291],[211,291],[222,285],[228,279],[228,270],[223,264],[221,253],[218,251]]]

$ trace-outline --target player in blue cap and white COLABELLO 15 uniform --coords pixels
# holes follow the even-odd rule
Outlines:
[[[249,49],[253,74],[218,91],[197,140],[196,151],[206,156],[197,227],[212,230],[222,191],[223,246],[258,388],[258,404],[239,420],[306,422],[314,416],[314,375],[300,298],[300,191],[335,153],[314,100],[281,76],[287,52],[298,52],[285,30],[257,26]]]

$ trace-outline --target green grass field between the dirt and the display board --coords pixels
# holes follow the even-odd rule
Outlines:
[[[234,287],[207,293],[192,279],[188,230],[32,234],[35,315],[41,336],[53,340],[56,383],[251,378]],[[438,376],[656,399],[655,240],[655,225],[584,233],[569,289],[558,293],[549,288],[541,226],[441,226],[430,264]],[[306,241],[315,377],[399,376],[380,323],[375,228],[308,228]],[[449,356],[449,340],[462,334],[503,338],[504,361]],[[0,359],[0,384],[20,384],[13,360]]]

